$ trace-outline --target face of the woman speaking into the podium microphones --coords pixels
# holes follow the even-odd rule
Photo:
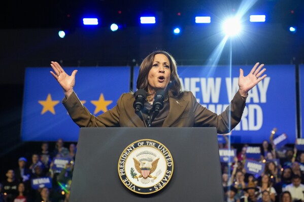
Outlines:
[[[152,68],[148,74],[148,92],[151,90],[164,89],[170,82],[170,62],[163,54],[156,54],[154,56]]]

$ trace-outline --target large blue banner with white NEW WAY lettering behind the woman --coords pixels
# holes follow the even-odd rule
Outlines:
[[[253,66],[178,66],[178,74],[183,90],[191,91],[201,105],[220,114],[238,92],[240,68],[247,75]],[[269,139],[274,127],[288,135],[288,142],[295,141],[295,66],[265,65],[265,68],[267,77],[249,92],[241,123],[231,133],[231,143],[261,143]],[[135,67],[134,91],[138,71],[139,67]]]

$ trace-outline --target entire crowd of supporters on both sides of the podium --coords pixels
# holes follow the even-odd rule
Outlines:
[[[245,162],[250,159],[246,157],[247,144],[238,148],[233,163],[221,163],[225,202],[304,202],[304,152],[293,145],[276,149],[274,134],[273,131],[269,141],[258,145],[261,156],[255,160],[265,165],[262,174],[246,172]],[[224,137],[226,144],[219,144],[219,148],[236,146]],[[52,151],[44,142],[41,151],[32,153],[31,159],[20,156],[16,159],[17,168],[7,170],[6,180],[0,183],[0,202],[69,201],[75,155],[74,143],[66,148],[63,140],[58,139]],[[58,169],[54,164],[56,159],[67,159],[67,163]],[[33,184],[33,179],[43,178],[51,182],[38,187]]]

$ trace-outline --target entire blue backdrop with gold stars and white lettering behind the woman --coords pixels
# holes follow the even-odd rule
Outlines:
[[[253,65],[252,65],[253,66]],[[242,67],[247,75],[252,66]],[[238,91],[240,66],[179,66],[184,90],[197,101],[221,113]],[[296,137],[295,67],[266,65],[267,77],[249,92],[241,123],[232,131],[231,143],[261,143],[274,127],[286,133],[288,143]],[[300,75],[304,75],[303,66]],[[65,68],[71,74],[75,68]],[[119,96],[130,89],[129,67],[81,67],[76,75],[75,92],[94,115],[115,106]],[[26,68],[21,136],[24,141],[77,141],[79,128],[60,103],[61,87],[49,73],[51,68]],[[139,67],[133,71],[133,90]],[[119,73],[118,73],[119,72]],[[302,78],[301,80],[304,80]],[[231,85],[231,88],[230,88]],[[301,95],[304,87],[300,83]],[[301,103],[304,99],[301,99]],[[302,113],[303,114],[303,113]]]

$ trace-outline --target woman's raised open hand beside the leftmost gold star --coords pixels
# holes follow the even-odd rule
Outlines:
[[[74,70],[71,76],[67,75],[58,62],[51,62],[51,67],[54,72],[50,71],[57,82],[63,89],[65,97],[69,97],[73,93],[73,88],[75,86],[75,75],[77,70]]]

